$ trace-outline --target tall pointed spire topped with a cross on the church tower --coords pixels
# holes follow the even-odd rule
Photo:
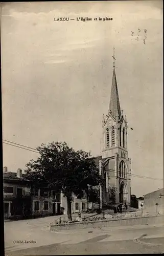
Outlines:
[[[112,85],[111,85],[111,94],[110,94],[110,103],[109,103],[109,113],[112,116],[121,116],[121,108],[120,108],[120,101],[119,101],[119,93],[118,93],[118,86],[116,83],[116,76],[115,76],[115,56],[114,56],[114,48],[113,48],[113,78],[112,78]]]

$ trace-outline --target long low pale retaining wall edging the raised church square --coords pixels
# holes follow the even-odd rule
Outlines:
[[[151,216],[151,217],[135,217],[118,220],[101,220],[101,221],[88,221],[80,223],[68,223],[53,225],[50,227],[52,231],[63,229],[77,229],[77,228],[98,228],[98,227],[112,227],[112,226],[130,226],[130,225],[146,225],[146,224],[163,224],[164,216]]]

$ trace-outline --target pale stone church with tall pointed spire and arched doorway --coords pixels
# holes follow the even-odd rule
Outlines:
[[[120,107],[113,62],[109,109],[102,119],[101,156],[96,157],[100,175],[104,179],[104,185],[100,187],[101,208],[111,204],[111,188],[115,190],[116,204],[130,204],[131,158],[128,156],[127,127],[126,115]]]

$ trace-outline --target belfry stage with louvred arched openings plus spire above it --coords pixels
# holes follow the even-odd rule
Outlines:
[[[108,114],[103,115],[102,120],[103,139],[102,157],[110,157],[114,153],[119,153],[119,148],[127,151],[127,119],[120,108],[118,85],[115,75],[115,56],[113,48],[113,76]],[[111,152],[111,153],[110,153]]]

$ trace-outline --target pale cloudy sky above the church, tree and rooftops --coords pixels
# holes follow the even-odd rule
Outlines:
[[[131,193],[163,187],[162,1],[2,3],[1,40],[3,139],[101,155],[114,47],[132,174],[160,179],[132,177]],[[3,144],[11,172],[37,157]]]

